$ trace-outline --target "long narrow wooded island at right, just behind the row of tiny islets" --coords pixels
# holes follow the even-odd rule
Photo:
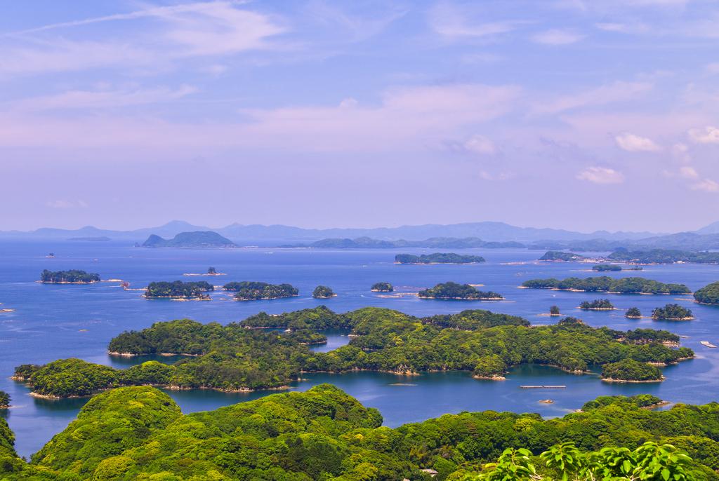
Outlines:
[[[521,287],[528,289],[555,289],[558,291],[606,292],[608,294],[691,294],[684,284],[664,284],[644,277],[623,277],[613,279],[608,276],[568,277],[567,279],[531,279],[524,281]]]

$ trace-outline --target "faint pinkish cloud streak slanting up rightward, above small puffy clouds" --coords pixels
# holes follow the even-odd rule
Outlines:
[[[635,100],[648,92],[653,84],[647,82],[615,82],[572,95],[562,95],[552,101],[538,103],[535,113],[559,113],[573,108],[600,106],[607,103]]]

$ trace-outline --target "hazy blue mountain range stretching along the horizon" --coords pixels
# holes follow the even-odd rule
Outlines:
[[[154,228],[136,230],[108,230],[88,226],[80,229],[40,228],[29,232],[0,231],[2,238],[37,239],[95,239],[128,240],[142,243],[150,235],[173,238],[179,233],[213,231],[239,246],[325,246],[325,247],[498,247],[528,246],[543,249],[570,248],[582,251],[608,251],[618,247],[634,248],[719,248],[719,222],[694,232],[675,234],[649,232],[613,232],[597,230],[580,233],[550,228],[523,228],[501,222],[477,222],[450,225],[403,225],[395,228],[333,228],[304,229],[288,225],[241,225],[234,223],[223,228],[192,225],[173,220]],[[384,244],[383,243],[387,243]]]

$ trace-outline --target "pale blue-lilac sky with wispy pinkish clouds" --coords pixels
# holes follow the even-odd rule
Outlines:
[[[0,230],[719,220],[715,0],[2,10]]]

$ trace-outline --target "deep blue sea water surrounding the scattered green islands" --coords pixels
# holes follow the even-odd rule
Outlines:
[[[456,251],[456,250],[455,250]],[[53,252],[55,258],[46,258]],[[54,434],[65,429],[86,399],[51,401],[28,396],[29,388],[9,379],[15,365],[47,363],[59,358],[82,358],[94,363],[125,368],[146,359],[111,358],[109,340],[124,330],[140,330],[153,322],[188,317],[200,322],[239,321],[260,311],[287,312],[320,304],[345,312],[367,306],[398,309],[424,316],[463,309],[491,309],[521,315],[533,324],[549,324],[556,318],[543,315],[557,304],[563,315],[581,317],[592,326],[627,330],[636,327],[667,329],[686,336],[682,345],[692,347],[697,358],[664,368],[667,380],[655,384],[612,384],[597,375],[571,375],[555,368],[523,365],[505,381],[475,380],[468,373],[426,373],[400,377],[386,373],[306,374],[293,389],[306,390],[318,383],[334,383],[366,406],[379,408],[385,424],[406,422],[459,411],[537,412],[562,416],[597,396],[651,393],[674,403],[719,401],[719,349],[700,345],[708,340],[719,345],[719,308],[701,306],[691,296],[643,296],[585,294],[518,289],[526,279],[598,275],[582,263],[540,263],[541,252],[524,249],[470,249],[457,251],[484,256],[486,263],[409,266],[393,263],[396,253],[430,253],[427,249],[320,250],[283,248],[244,249],[146,249],[127,243],[32,242],[0,243],[0,390],[12,396],[13,407],[0,411],[17,435],[19,454],[29,457]],[[214,266],[226,276],[184,277],[203,273]],[[142,299],[140,291],[125,291],[119,282],[91,285],[43,285],[36,282],[40,271],[81,268],[98,272],[102,279],[129,281],[141,288],[150,281],[205,279],[216,285],[227,281],[288,282],[300,296],[273,301],[234,302],[224,292],[212,294],[210,302],[172,302]],[[644,271],[609,273],[610,276],[643,276],[664,282],[687,284],[698,289],[719,280],[719,266],[695,264],[646,266]],[[370,291],[377,281],[389,281],[396,292],[417,291],[438,282],[483,284],[481,289],[498,291],[501,302],[462,302],[418,299],[416,296],[387,297]],[[311,291],[318,284],[331,286],[337,296],[322,301]],[[395,293],[396,294],[396,293]],[[616,307],[636,306],[644,315],[667,302],[689,307],[691,322],[628,320],[623,311],[585,312],[577,309],[583,300],[610,297]],[[347,342],[340,332],[329,333],[331,350]],[[168,360],[163,358],[163,360]],[[566,389],[521,389],[523,384],[566,385]],[[276,391],[221,393],[217,391],[170,391],[183,412],[204,411],[247,401]],[[539,403],[544,398],[554,404]]]

